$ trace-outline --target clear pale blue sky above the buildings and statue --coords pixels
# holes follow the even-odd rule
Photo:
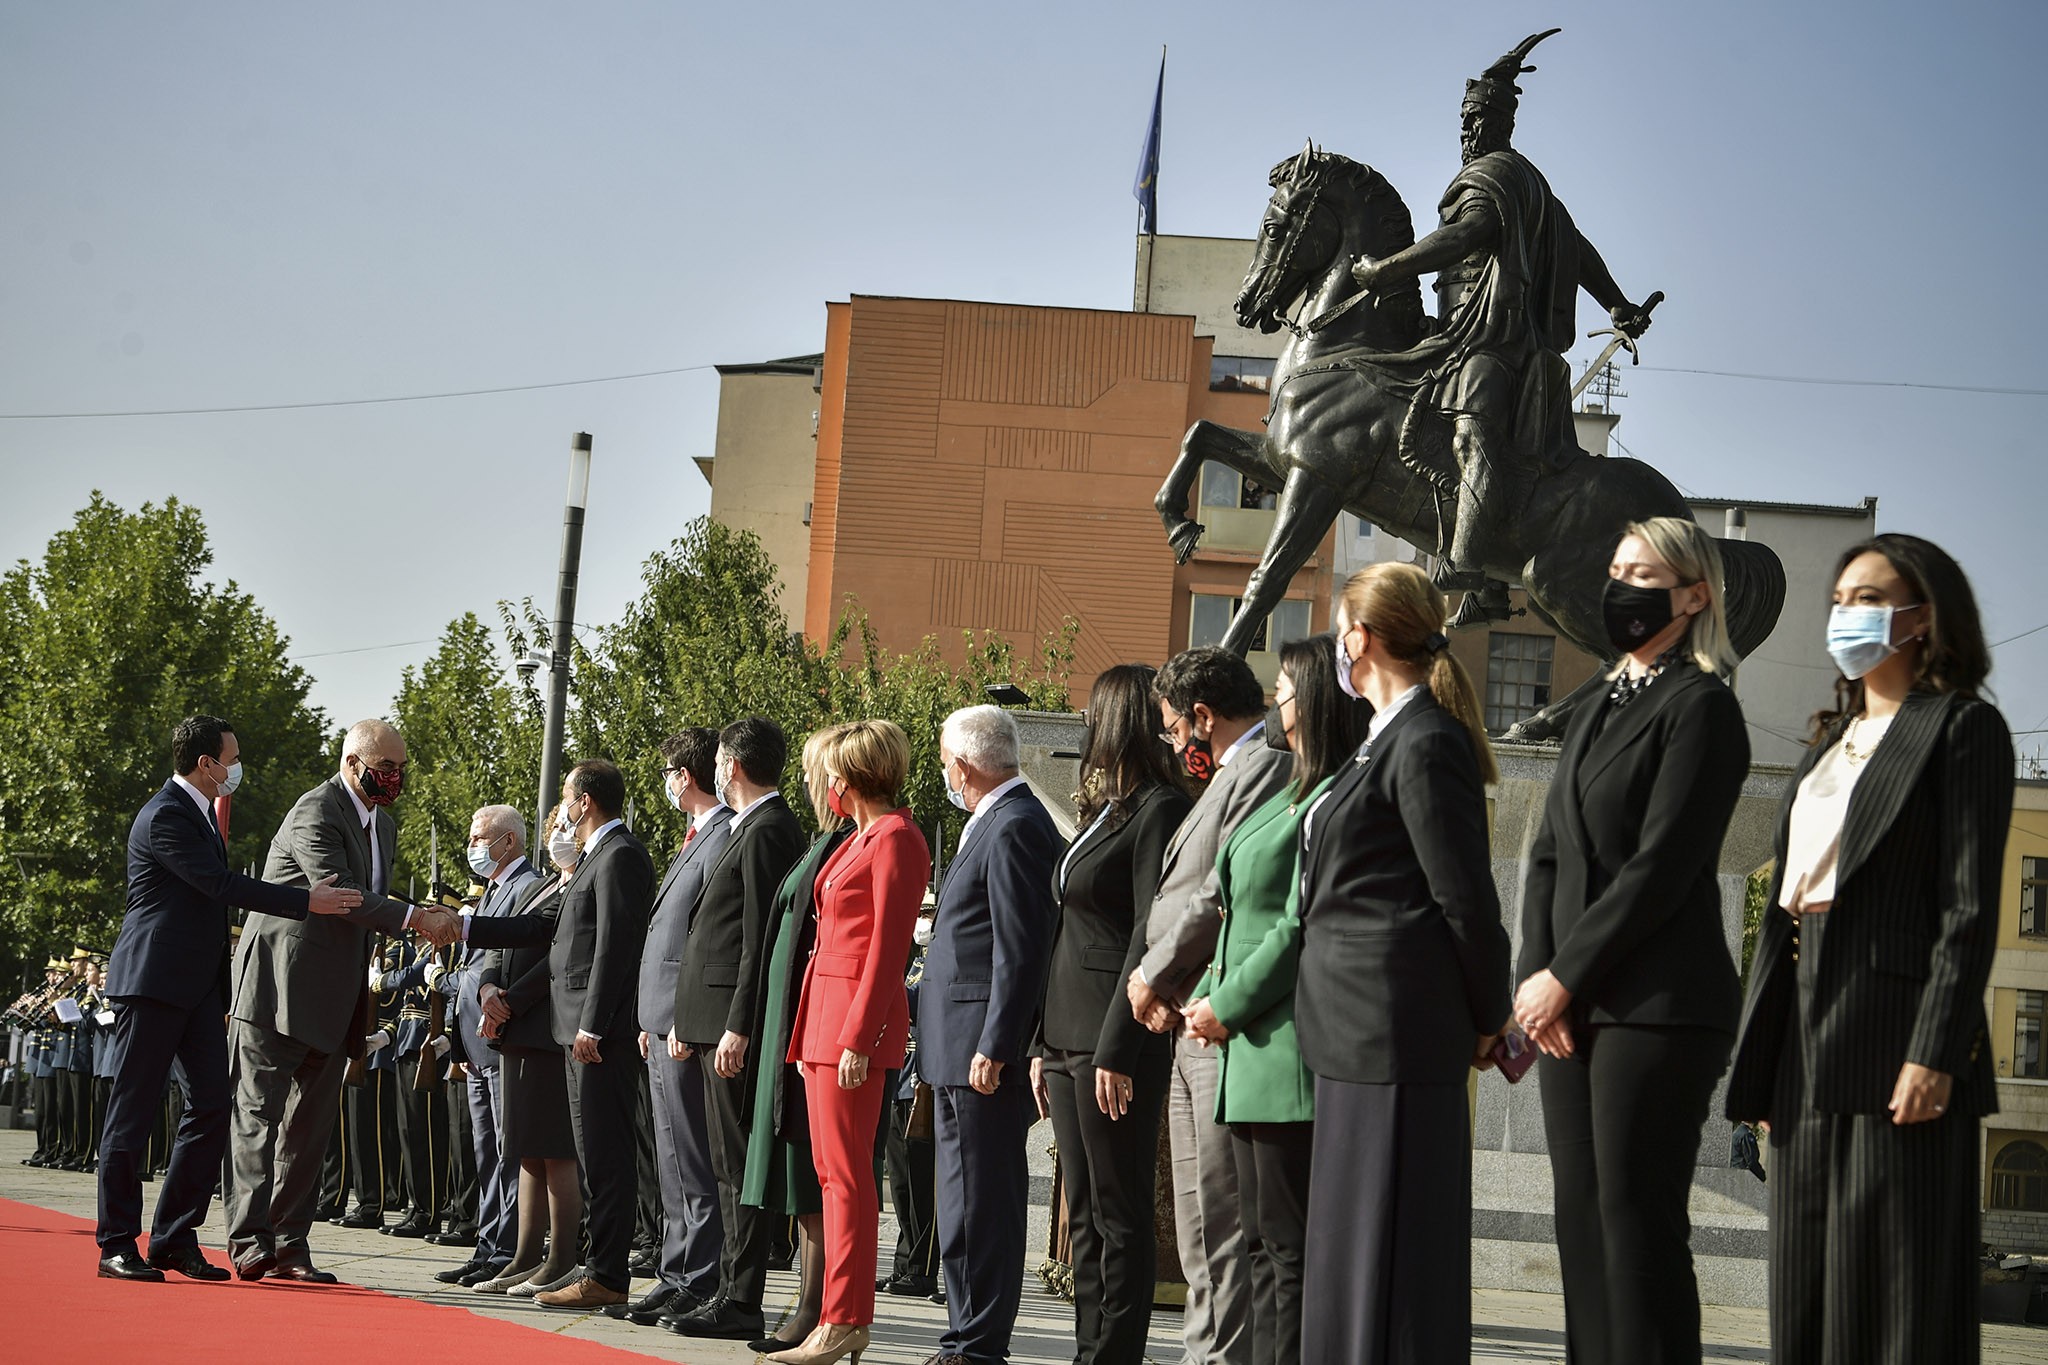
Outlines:
[[[848,293],[1128,307],[1161,43],[1161,229],[1249,235],[1266,168],[1311,135],[1427,221],[1464,78],[1563,25],[1518,145],[1624,289],[1669,295],[1626,375],[1628,448],[1702,495],[1874,493],[1882,528],[1964,561],[1993,639],[2048,622],[2048,399],[1651,368],[2048,385],[2048,10],[1446,8],[8,4],[0,413],[760,360],[819,348]],[[428,653],[371,647],[551,600],[578,430],[582,614],[612,618],[707,510],[690,456],[715,401],[698,370],[0,420],[0,561],[39,555],[94,487],[193,501],[219,577],[346,722]],[[2048,724],[2048,630],[2001,649],[1993,684],[2015,729]]]

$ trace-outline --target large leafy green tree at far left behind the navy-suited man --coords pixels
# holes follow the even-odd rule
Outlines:
[[[170,776],[170,731],[225,716],[242,745],[229,860],[260,864],[285,810],[334,763],[289,641],[233,581],[203,581],[197,508],[100,493],[41,563],[0,577],[0,960],[113,948],[127,831]]]

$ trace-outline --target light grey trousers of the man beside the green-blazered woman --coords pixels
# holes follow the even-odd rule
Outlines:
[[[1217,1121],[1217,1050],[1174,1040],[1165,1095],[1174,1234],[1188,1277],[1186,1365],[1249,1365],[1251,1261],[1237,1222],[1237,1158]]]

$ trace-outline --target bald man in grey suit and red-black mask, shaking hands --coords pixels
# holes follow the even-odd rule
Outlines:
[[[406,741],[383,720],[358,720],[342,741],[342,769],[301,796],[270,839],[266,882],[332,878],[362,892],[362,905],[346,915],[252,919],[236,950],[227,1242],[242,1279],[334,1283],[313,1269],[305,1238],[350,1046],[369,1033],[369,931],[455,927],[453,915],[385,894],[397,827],[383,806],[403,782]]]

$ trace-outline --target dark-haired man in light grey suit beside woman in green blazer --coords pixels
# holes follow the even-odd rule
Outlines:
[[[1130,1013],[1155,1033],[1180,1023],[1180,1007],[1217,954],[1223,927],[1217,849],[1231,831],[1286,786],[1292,757],[1266,745],[1266,690],[1251,665],[1223,649],[1188,649],[1153,679],[1159,726],[1202,796],[1165,847],[1159,892],[1145,923],[1145,958],[1126,982]],[[1251,1263],[1237,1222],[1231,1134],[1217,1121],[1217,1050],[1174,1044],[1165,1105],[1174,1150],[1174,1230],[1188,1277],[1182,1338],[1188,1365],[1251,1359]]]

